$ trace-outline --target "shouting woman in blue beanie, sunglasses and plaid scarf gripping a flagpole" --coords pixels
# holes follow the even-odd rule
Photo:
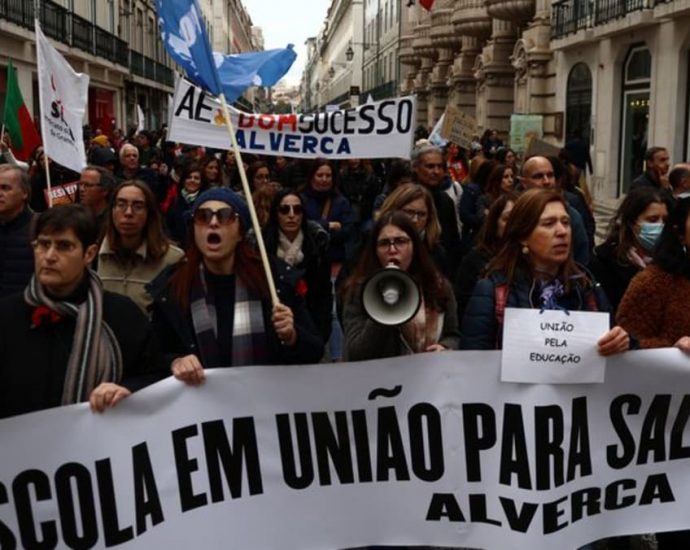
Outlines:
[[[151,288],[153,325],[172,374],[198,385],[206,368],[318,362],[323,342],[284,278],[276,278],[281,303],[271,306],[262,263],[244,238],[244,199],[209,189],[192,212],[187,261]]]

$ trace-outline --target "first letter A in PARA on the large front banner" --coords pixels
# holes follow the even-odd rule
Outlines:
[[[522,407],[507,403],[503,409],[499,483],[510,485],[513,475],[517,478],[517,486],[520,489],[532,488]]]

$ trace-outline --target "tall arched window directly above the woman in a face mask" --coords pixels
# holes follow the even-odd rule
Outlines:
[[[627,193],[632,181],[644,171],[649,130],[652,55],[644,45],[630,48],[623,64],[623,117],[619,191]]]

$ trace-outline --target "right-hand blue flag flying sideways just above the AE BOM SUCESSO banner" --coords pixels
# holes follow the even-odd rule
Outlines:
[[[276,84],[297,59],[292,48],[288,44],[287,48],[223,56],[218,73],[225,99],[235,101],[250,86]]]

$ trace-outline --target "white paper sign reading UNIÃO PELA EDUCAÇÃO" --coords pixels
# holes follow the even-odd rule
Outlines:
[[[603,382],[606,358],[597,352],[597,341],[608,329],[608,313],[506,308],[501,380]]]

